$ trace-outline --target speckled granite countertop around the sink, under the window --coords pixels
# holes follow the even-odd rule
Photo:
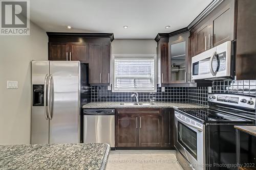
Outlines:
[[[191,103],[160,103],[150,106],[123,106],[120,102],[91,102],[82,106],[83,109],[115,109],[115,108],[175,108],[175,109],[207,109],[208,106]]]

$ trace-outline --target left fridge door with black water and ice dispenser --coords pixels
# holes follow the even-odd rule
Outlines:
[[[49,61],[32,61],[32,100],[33,85],[44,85],[48,74]],[[45,106],[33,106],[31,103],[31,143],[49,143],[49,120],[45,116]]]

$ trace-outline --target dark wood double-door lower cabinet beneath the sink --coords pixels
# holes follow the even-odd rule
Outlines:
[[[116,109],[116,147],[174,149],[173,109]]]

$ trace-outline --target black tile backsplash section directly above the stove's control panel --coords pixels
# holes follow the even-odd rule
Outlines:
[[[231,80],[212,82],[212,93],[232,93],[255,96],[256,80]]]

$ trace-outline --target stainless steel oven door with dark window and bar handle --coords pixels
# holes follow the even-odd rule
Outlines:
[[[189,119],[175,111],[175,147],[190,163],[189,166],[203,170],[205,169],[205,128],[202,124],[201,127],[194,126],[196,121]]]

